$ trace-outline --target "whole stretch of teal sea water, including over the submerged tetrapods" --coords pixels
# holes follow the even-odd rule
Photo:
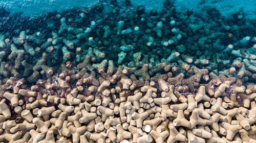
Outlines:
[[[196,66],[254,82],[255,1],[2,1],[1,6],[3,81],[34,74],[33,83],[47,77],[49,68],[60,74],[68,61],[79,71],[90,56],[95,68],[105,68],[105,60],[133,71],[167,63],[167,71],[177,68],[173,75],[190,77],[187,70]],[[150,76],[164,73],[158,69]]]

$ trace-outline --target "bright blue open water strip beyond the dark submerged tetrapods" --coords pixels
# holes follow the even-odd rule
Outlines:
[[[4,6],[11,14],[17,12],[23,12],[24,15],[34,16],[40,15],[42,12],[46,11],[58,11],[69,10],[71,8],[82,8],[90,7],[95,4],[97,1],[87,0],[87,1],[62,1],[62,0],[49,0],[49,1],[1,1],[0,6]],[[133,5],[144,5],[149,11],[153,8],[161,10],[163,8],[164,0],[158,1],[136,1],[132,0]],[[204,2],[204,3],[203,3]],[[105,1],[108,3],[108,1]],[[118,1],[118,3],[123,3]],[[230,16],[233,13],[236,13],[240,8],[243,8],[247,18],[255,19],[255,5],[256,2],[253,0],[246,1],[201,1],[201,0],[191,0],[184,1],[178,0],[175,1],[175,6],[179,11],[185,9],[191,9],[194,11],[199,11],[203,6],[212,6],[217,8],[220,13],[224,16]]]

